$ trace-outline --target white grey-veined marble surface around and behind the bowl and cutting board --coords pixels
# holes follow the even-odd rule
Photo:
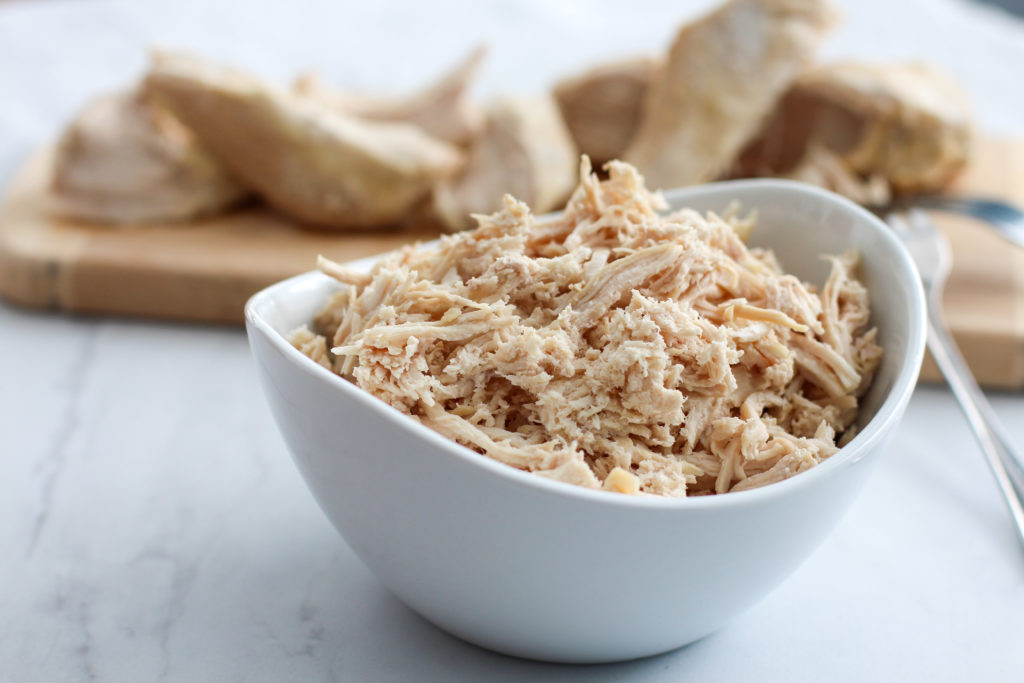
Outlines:
[[[709,3],[207,4],[0,3],[0,178],[153,42],[400,87],[479,37],[487,93],[662,45]],[[827,54],[941,63],[985,128],[1024,133],[1024,26],[843,4]],[[1024,394],[996,408],[1024,443]],[[0,681],[1019,681],[1022,642],[1024,550],[943,389],[919,389],[835,535],[748,614],[659,657],[559,667],[457,641],[375,582],[292,466],[240,330],[0,304]]]

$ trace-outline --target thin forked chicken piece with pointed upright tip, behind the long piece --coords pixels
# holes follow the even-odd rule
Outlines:
[[[483,113],[469,98],[469,86],[486,54],[481,47],[439,81],[404,97],[359,95],[334,89],[316,74],[295,82],[295,92],[319,99],[337,111],[371,121],[404,122],[453,144],[467,144],[480,131]]]

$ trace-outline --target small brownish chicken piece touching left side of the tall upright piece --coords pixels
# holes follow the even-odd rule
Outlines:
[[[639,57],[597,67],[555,86],[555,99],[577,147],[596,166],[626,152],[656,70],[656,59]]]

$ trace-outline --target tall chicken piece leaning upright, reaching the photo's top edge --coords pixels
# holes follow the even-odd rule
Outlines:
[[[626,160],[658,187],[727,170],[809,66],[833,17],[825,0],[731,0],[683,27]]]

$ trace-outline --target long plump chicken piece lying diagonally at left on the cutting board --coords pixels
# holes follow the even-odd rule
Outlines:
[[[155,55],[146,85],[269,204],[324,227],[393,223],[460,163],[415,126],[345,117],[186,55]]]

